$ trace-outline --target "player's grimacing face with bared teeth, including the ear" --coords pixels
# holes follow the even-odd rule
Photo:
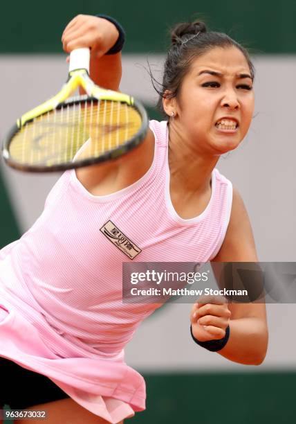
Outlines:
[[[250,127],[254,92],[250,68],[238,48],[215,47],[196,58],[176,98],[164,101],[170,125],[199,152],[236,148]]]

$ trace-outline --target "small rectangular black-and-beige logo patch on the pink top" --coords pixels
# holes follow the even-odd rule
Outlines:
[[[125,255],[130,259],[136,258],[136,256],[142,251],[140,247],[136,246],[124,233],[118,229],[113,222],[108,221],[100,228],[100,231],[110,240],[113,245],[118,247]]]

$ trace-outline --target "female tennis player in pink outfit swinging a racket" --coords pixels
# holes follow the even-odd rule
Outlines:
[[[113,90],[122,41],[120,25],[102,16],[79,15],[62,35],[67,53],[91,48],[91,77]],[[41,422],[42,410],[48,424],[122,423],[145,409],[145,382],[123,348],[156,306],[122,303],[131,258],[107,225],[140,250],[135,262],[257,261],[243,201],[215,168],[248,132],[253,80],[230,37],[201,22],[176,26],[160,90],[166,120],[151,121],[124,157],[67,170],[33,227],[0,251],[0,404],[30,413],[16,423]],[[195,304],[190,320],[201,346],[263,361],[263,304]]]

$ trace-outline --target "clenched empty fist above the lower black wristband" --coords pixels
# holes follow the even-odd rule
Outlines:
[[[194,303],[190,312],[192,333],[200,342],[218,340],[225,337],[225,330],[229,325],[231,312],[224,298],[212,297],[201,303]]]

